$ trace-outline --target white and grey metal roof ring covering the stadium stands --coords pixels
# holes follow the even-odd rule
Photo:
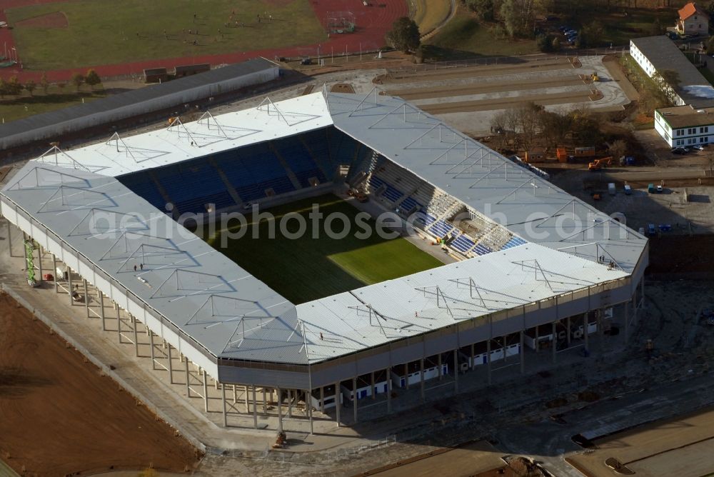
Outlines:
[[[503,214],[503,225],[531,243],[294,306],[114,179],[331,125],[486,216]],[[326,361],[623,278],[647,261],[644,237],[433,116],[375,94],[266,100],[53,150],[29,161],[1,195],[216,358]],[[92,234],[86,224],[95,214],[122,225]],[[565,214],[592,225],[560,238],[554,224]],[[599,263],[602,255],[615,268]],[[140,256],[145,266],[136,272]]]

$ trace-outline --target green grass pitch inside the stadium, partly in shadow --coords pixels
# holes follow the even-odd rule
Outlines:
[[[313,239],[308,219],[312,204],[320,204],[325,217],[333,212],[345,214],[351,221],[351,233],[344,239],[331,239],[321,224],[319,238]],[[241,239],[228,241],[226,248],[220,246],[221,231],[208,237],[207,241],[293,303],[323,298],[443,264],[406,239],[387,240],[376,233],[367,239],[359,239],[355,236],[361,231],[356,226],[359,211],[333,195],[296,201],[268,211],[276,216],[276,221],[291,212],[301,214],[307,221],[307,233],[298,239],[288,239],[279,232],[275,239],[253,239],[256,226],[258,236],[267,237],[269,224],[263,220],[256,225],[248,217],[249,230]],[[369,219],[367,223],[375,229],[375,221]],[[290,232],[298,228],[294,219],[286,224]],[[339,232],[342,227],[342,222],[336,220],[331,229]],[[231,231],[238,229],[240,225]]]

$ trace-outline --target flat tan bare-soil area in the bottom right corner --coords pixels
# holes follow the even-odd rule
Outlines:
[[[714,411],[653,423],[595,441],[596,449],[568,458],[586,476],[613,476],[616,458],[638,476],[696,477],[714,471]]]

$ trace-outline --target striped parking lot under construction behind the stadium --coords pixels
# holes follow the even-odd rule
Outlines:
[[[534,55],[388,69],[374,83],[468,134],[486,136],[496,114],[529,101],[555,111],[622,110],[632,94],[622,77],[614,56]]]

